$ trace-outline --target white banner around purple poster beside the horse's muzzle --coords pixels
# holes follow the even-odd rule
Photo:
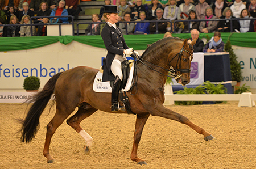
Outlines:
[[[204,82],[204,53],[193,53],[193,60],[191,62],[190,83],[187,85],[200,85]],[[181,85],[172,79],[173,85]]]

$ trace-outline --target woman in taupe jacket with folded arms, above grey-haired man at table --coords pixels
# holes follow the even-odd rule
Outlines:
[[[209,21],[201,21],[199,25],[200,32],[203,33],[209,33],[209,32],[215,32],[215,29],[217,28],[218,21],[212,21],[210,19],[217,19],[216,16],[213,15],[213,10],[209,6],[207,9],[205,9],[205,19],[208,19]]]

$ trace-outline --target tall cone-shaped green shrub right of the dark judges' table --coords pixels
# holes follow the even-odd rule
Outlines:
[[[242,81],[242,72],[241,66],[237,61],[237,56],[234,54],[234,50],[232,49],[230,41],[226,41],[225,47],[226,52],[229,52],[229,60],[230,60],[230,71],[232,81],[237,81],[238,84]]]

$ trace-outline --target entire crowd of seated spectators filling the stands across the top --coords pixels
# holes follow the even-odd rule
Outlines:
[[[34,23],[68,23],[70,21],[68,17],[54,16],[73,15],[77,19],[81,10],[77,7],[78,2],[79,0],[0,0],[0,36],[31,36],[31,33],[33,36],[46,36],[46,25],[32,26],[32,29],[31,26],[26,26],[30,24],[30,18],[42,16],[34,19]],[[118,6],[120,23],[117,23],[117,26],[121,28],[123,34],[175,32],[191,33],[192,37],[208,32],[256,32],[256,22],[251,19],[256,19],[256,0],[105,0],[104,2],[105,5]],[[94,23],[88,25],[85,30],[86,35],[101,34],[104,27],[101,22],[105,22],[102,18],[103,10],[102,7],[98,14],[92,15]],[[52,18],[43,16],[52,16]],[[243,19],[232,20],[231,26],[229,19],[233,18]],[[201,19],[205,20],[201,21]],[[160,22],[152,22],[154,20]],[[184,20],[193,21],[184,22]],[[135,23],[122,23],[130,21]],[[4,24],[11,26],[4,27]],[[217,37],[221,40],[220,34],[217,33],[215,40]],[[214,39],[211,41],[209,47],[218,44]],[[198,44],[201,44],[201,41]]]

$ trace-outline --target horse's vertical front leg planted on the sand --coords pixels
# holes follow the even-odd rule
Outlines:
[[[134,139],[133,150],[131,151],[131,160],[137,162],[137,164],[140,164],[140,165],[147,164],[145,160],[138,158],[137,151],[138,151],[139,141],[141,141],[142,130],[149,116],[150,114],[148,113],[144,116],[137,115],[137,118],[136,118],[134,138],[133,138]]]

